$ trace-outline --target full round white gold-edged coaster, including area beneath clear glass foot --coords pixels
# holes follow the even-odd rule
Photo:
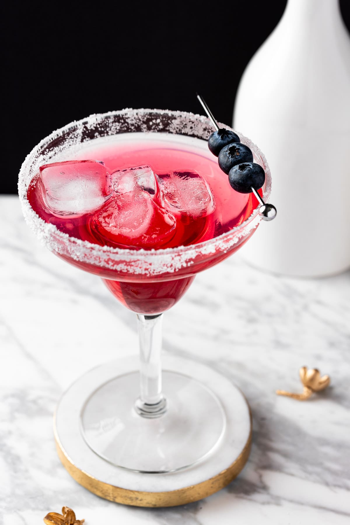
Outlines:
[[[245,465],[251,415],[241,391],[197,361],[163,355],[166,411],[144,418],[134,404],[138,356],[96,367],[63,394],[55,414],[58,455],[98,496],[140,507],[197,501]]]

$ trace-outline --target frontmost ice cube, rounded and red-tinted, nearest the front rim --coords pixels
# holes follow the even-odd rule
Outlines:
[[[176,219],[146,191],[116,193],[93,215],[92,229],[107,245],[164,246],[175,235]]]

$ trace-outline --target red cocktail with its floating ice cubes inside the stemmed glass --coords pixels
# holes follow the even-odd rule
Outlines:
[[[255,156],[262,164],[260,156]],[[215,156],[196,138],[121,134],[73,146],[65,151],[64,159],[40,166],[29,184],[28,201],[60,232],[99,246],[163,250],[198,245],[239,227],[257,205],[252,194],[232,190]],[[91,176],[95,177],[92,183]],[[83,198],[81,187],[87,191]],[[106,271],[58,255],[107,277],[107,287],[129,309],[156,314],[182,297],[195,272],[240,245],[225,254],[214,253],[209,260],[205,257],[203,264],[198,252],[195,267],[187,265],[157,276]]]

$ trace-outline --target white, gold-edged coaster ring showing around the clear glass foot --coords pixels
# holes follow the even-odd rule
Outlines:
[[[138,507],[184,505],[225,487],[246,464],[251,444],[251,414],[237,386],[208,366],[186,358],[164,355],[162,365],[165,395],[167,374],[174,373],[186,374],[214,393],[224,418],[222,435],[200,461],[172,472],[145,473],[113,465],[88,445],[83,435],[82,414],[93,392],[115,378],[128,374],[132,378],[133,373],[137,373],[139,361],[134,356],[98,366],[80,377],[62,395],[54,427],[63,466],[80,485],[101,498]],[[210,412],[208,420],[210,423]],[[200,428],[197,432],[200,435]],[[198,446],[197,439],[187,446]],[[188,450],[184,452],[187,453]]]

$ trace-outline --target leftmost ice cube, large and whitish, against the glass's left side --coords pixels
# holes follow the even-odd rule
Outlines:
[[[46,203],[54,215],[94,212],[113,192],[111,176],[99,161],[66,161],[40,167]]]

